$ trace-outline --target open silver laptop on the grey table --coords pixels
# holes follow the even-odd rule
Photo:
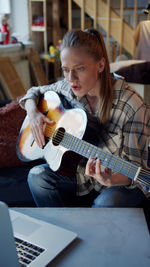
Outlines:
[[[0,202],[0,266],[46,266],[76,237],[72,231],[8,210]]]

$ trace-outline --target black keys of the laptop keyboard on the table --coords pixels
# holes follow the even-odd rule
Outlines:
[[[21,267],[28,266],[45,250],[17,237],[15,237],[15,243]]]

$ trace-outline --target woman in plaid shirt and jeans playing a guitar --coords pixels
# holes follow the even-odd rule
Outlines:
[[[110,75],[101,34],[94,29],[67,32],[60,50],[62,81],[33,87],[21,99],[35,141],[45,145],[43,124],[52,123],[37,108],[48,90],[61,93],[99,119],[98,146],[148,169],[150,110],[123,78]],[[73,178],[53,172],[48,164],[31,169],[28,183],[37,206],[136,207],[144,188],[127,176],[103,168],[99,159],[81,160]]]

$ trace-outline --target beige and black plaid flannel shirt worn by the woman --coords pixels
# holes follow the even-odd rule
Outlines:
[[[134,88],[130,87],[123,78],[118,78],[116,75],[115,78],[110,119],[107,127],[102,129],[97,146],[137,166],[150,170],[147,166],[148,146],[150,144],[150,109]],[[92,113],[86,96],[78,100],[65,79],[51,85],[32,87],[20,100],[20,105],[24,108],[24,102],[28,98],[35,99],[38,103],[39,96],[49,90],[63,94],[70,99],[73,105]],[[88,194],[93,188],[98,192],[105,189],[95,179],[85,175],[85,164],[82,160],[77,167],[76,177],[77,195]],[[144,186],[139,183],[133,182],[128,188],[135,186],[140,187],[148,195]]]

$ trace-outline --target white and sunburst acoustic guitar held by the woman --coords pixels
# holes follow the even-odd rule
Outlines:
[[[25,117],[17,141],[17,154],[21,160],[43,158],[53,171],[58,171],[65,153],[72,151],[85,158],[99,158],[103,166],[138,181],[147,188],[150,186],[149,171],[82,139],[87,127],[87,114],[83,109],[65,109],[60,96],[54,91],[43,95],[38,109],[55,123],[46,124],[46,145],[41,149],[32,137],[28,116]]]

